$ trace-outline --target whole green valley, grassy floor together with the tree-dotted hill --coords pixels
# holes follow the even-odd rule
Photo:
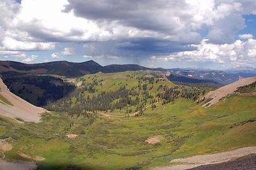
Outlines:
[[[99,72],[73,83],[40,123],[1,118],[0,138],[13,145],[6,159],[43,157],[37,169],[149,169],[256,144],[255,96],[204,108],[199,98],[213,88],[176,85],[153,71]]]

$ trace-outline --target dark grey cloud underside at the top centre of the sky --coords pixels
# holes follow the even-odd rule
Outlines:
[[[189,14],[176,13],[179,9],[185,9],[187,6],[181,0],[69,0],[69,4],[64,6],[63,11],[68,13],[73,10],[76,16],[93,21],[115,21],[120,25],[131,26],[141,30],[173,33],[178,28],[177,20],[190,18]]]

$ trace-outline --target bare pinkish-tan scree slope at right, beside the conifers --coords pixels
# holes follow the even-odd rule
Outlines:
[[[256,77],[248,77],[248,78],[240,79],[226,86],[223,86],[219,89],[216,89],[215,91],[211,91],[208,94],[206,94],[206,96],[204,96],[206,99],[212,98],[211,101],[207,102],[203,106],[209,107],[211,105],[214,105],[218,103],[219,99],[223,98],[224,96],[227,96],[228,94],[234,93],[237,88],[248,85],[248,84],[252,84],[255,81],[256,81]]]

